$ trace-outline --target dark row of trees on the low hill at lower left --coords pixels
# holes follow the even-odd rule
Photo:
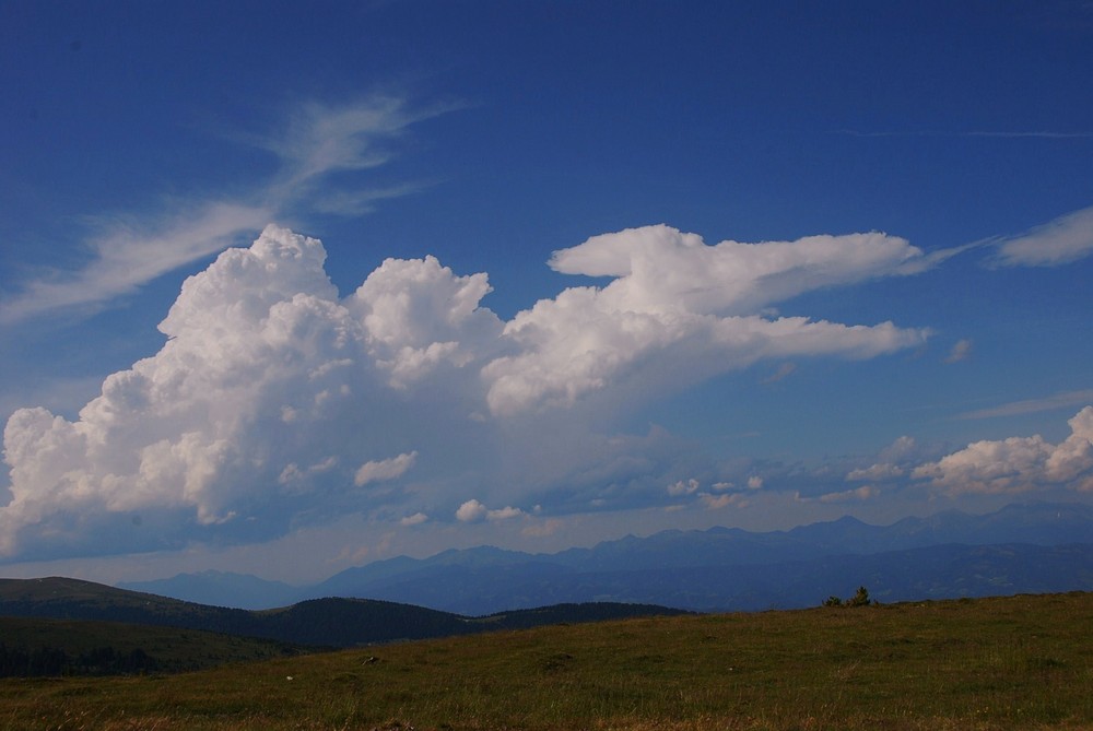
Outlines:
[[[97,647],[72,656],[54,647],[24,650],[0,642],[0,677],[117,675],[157,669],[155,658],[140,648],[119,652],[113,647]]]

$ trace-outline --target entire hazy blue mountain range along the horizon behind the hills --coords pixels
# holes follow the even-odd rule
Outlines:
[[[305,588],[216,571],[119,586],[235,606],[355,597],[477,616],[592,601],[791,609],[863,583],[882,601],[1090,590],[1093,507],[1026,503],[891,526],[844,517],[788,531],[669,530],[555,554],[480,546],[379,561]]]

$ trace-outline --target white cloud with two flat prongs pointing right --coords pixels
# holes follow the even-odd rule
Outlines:
[[[761,314],[803,292],[929,266],[919,249],[883,234],[707,246],[694,234],[646,226],[595,236],[555,251],[550,263],[562,273],[614,280],[565,290],[506,323],[518,352],[483,370],[496,414],[569,405],[619,382],[686,384],[761,358],[873,357],[929,335],[891,322]]]

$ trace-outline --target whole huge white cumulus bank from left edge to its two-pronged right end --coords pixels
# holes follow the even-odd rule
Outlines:
[[[284,153],[297,177],[333,165],[301,150]],[[352,152],[331,154],[368,164]],[[875,233],[716,246],[668,226],[597,236],[550,266],[609,283],[509,321],[482,305],[485,273],[388,259],[341,296],[325,260],[318,240],[268,226],[185,282],[163,347],[109,376],[75,421],[15,412],[0,552],[246,542],[351,512],[412,526],[665,502],[679,445],[593,434],[581,406],[610,424],[623,401],[760,359],[871,358],[929,335],[769,315],[812,290],[932,266]],[[543,469],[520,483],[514,461]],[[712,507],[733,499],[695,492]]]

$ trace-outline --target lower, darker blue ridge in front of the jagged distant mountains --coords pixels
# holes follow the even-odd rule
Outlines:
[[[453,567],[369,589],[375,599],[479,614],[561,602],[640,602],[701,612],[815,606],[858,586],[884,602],[1093,590],[1093,544],[945,544],[774,564],[630,570]]]

